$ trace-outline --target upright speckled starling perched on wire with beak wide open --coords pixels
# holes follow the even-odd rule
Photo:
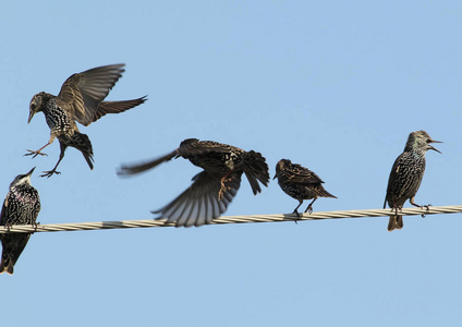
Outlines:
[[[390,216],[388,231],[403,228],[403,216],[398,215],[398,210],[402,209],[408,198],[413,206],[422,207],[415,204],[414,196],[424,177],[425,154],[429,149],[440,153],[430,143],[441,142],[433,140],[425,131],[412,132],[409,134],[404,152],[397,158],[391,168],[384,209],[388,202],[396,215]],[[428,206],[424,207],[428,208]]]

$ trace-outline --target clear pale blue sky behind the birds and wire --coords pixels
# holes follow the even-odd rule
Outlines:
[[[410,132],[427,154],[420,204],[461,205],[460,1],[8,1],[0,13],[0,193],[37,166],[41,223],[148,219],[199,171],[121,164],[189,137],[289,158],[338,196],[315,211],[381,208]],[[81,128],[95,169],[49,138],[34,94],[111,63],[108,100],[148,95]],[[276,181],[243,179],[227,216],[291,213]],[[304,204],[305,208],[307,203]],[[406,203],[405,206],[410,206]],[[34,234],[0,276],[2,326],[460,326],[461,215]]]

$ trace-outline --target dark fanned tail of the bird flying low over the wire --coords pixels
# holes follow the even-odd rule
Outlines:
[[[260,181],[262,184],[268,186],[269,182],[269,172],[268,165],[266,164],[266,159],[262,156],[260,153],[256,153],[254,150],[250,150],[244,158],[245,168],[244,172],[247,177],[248,183],[251,183],[252,191],[256,195],[262,192],[262,189],[258,184]]]

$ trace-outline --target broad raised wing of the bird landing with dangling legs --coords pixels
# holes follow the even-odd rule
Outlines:
[[[58,106],[71,113],[81,124],[89,125],[98,119],[95,119],[98,106],[122,76],[124,65],[104,65],[73,74],[61,87],[57,97]]]

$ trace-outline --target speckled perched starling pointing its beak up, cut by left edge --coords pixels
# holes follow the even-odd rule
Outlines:
[[[40,211],[40,197],[37,190],[31,185],[31,174],[35,167],[26,174],[17,175],[10,184],[10,192],[3,202],[0,226],[10,228],[12,225],[37,225]],[[27,244],[31,233],[0,234],[3,247],[0,262],[0,274],[13,275],[13,266]]]

